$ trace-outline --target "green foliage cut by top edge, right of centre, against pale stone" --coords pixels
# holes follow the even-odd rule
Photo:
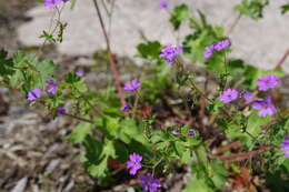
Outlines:
[[[262,18],[263,8],[268,4],[269,0],[241,0],[241,3],[237,4],[235,9],[240,14],[258,20]]]

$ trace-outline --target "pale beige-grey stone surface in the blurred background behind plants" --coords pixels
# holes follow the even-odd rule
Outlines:
[[[136,46],[143,42],[143,37],[165,44],[175,44],[189,32],[186,27],[181,28],[179,33],[173,32],[168,22],[168,12],[157,9],[157,0],[113,2],[111,23],[109,24],[108,19],[104,19],[104,22],[109,29],[111,49],[119,55],[136,58]],[[170,8],[181,2],[188,3],[195,11],[202,10],[211,23],[222,26],[227,31],[238,17],[233,7],[239,1],[171,0]],[[242,17],[229,36],[233,47],[231,57],[242,58],[262,69],[272,69],[289,49],[289,14],[280,13],[280,6],[286,2],[287,0],[271,0],[265,9],[263,19],[259,21]],[[68,55],[91,55],[96,50],[104,49],[104,39],[92,0],[78,0],[72,10],[69,7],[67,3],[61,13],[61,21],[67,22],[68,27],[63,42],[57,46],[58,51]],[[107,16],[103,9],[102,13]],[[49,28],[53,14],[56,10],[43,6],[29,10],[27,16],[33,19],[18,29],[20,42],[23,46],[41,46],[42,40],[38,37],[42,30]],[[289,72],[289,59],[282,67]]]

